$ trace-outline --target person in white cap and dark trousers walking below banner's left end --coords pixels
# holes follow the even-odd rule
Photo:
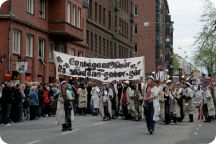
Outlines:
[[[65,112],[65,123],[62,124],[62,131],[71,131],[72,130],[72,121],[71,121],[71,111],[73,108],[72,104],[72,94],[67,89],[68,82],[61,82],[61,102],[64,104],[64,112]]]

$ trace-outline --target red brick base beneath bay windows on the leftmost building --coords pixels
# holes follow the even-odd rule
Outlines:
[[[49,21],[49,33],[55,36],[61,36],[73,41],[83,41],[83,30],[65,22]]]

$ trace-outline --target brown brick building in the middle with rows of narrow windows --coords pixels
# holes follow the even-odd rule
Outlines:
[[[89,57],[132,57],[132,0],[87,0]]]

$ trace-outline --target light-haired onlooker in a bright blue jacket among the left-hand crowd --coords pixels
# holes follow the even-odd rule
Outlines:
[[[36,119],[39,99],[37,94],[37,86],[32,86],[29,93],[30,120]]]

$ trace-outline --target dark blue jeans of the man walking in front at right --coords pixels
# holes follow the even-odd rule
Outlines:
[[[145,117],[148,131],[153,131],[155,129],[155,121],[153,120],[154,116],[154,107],[153,102],[147,102],[144,106],[145,109]]]

